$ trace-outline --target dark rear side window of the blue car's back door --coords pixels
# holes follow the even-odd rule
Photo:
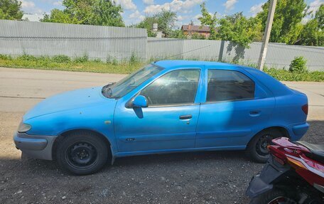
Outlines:
[[[254,98],[254,81],[234,70],[208,70],[206,102]]]

